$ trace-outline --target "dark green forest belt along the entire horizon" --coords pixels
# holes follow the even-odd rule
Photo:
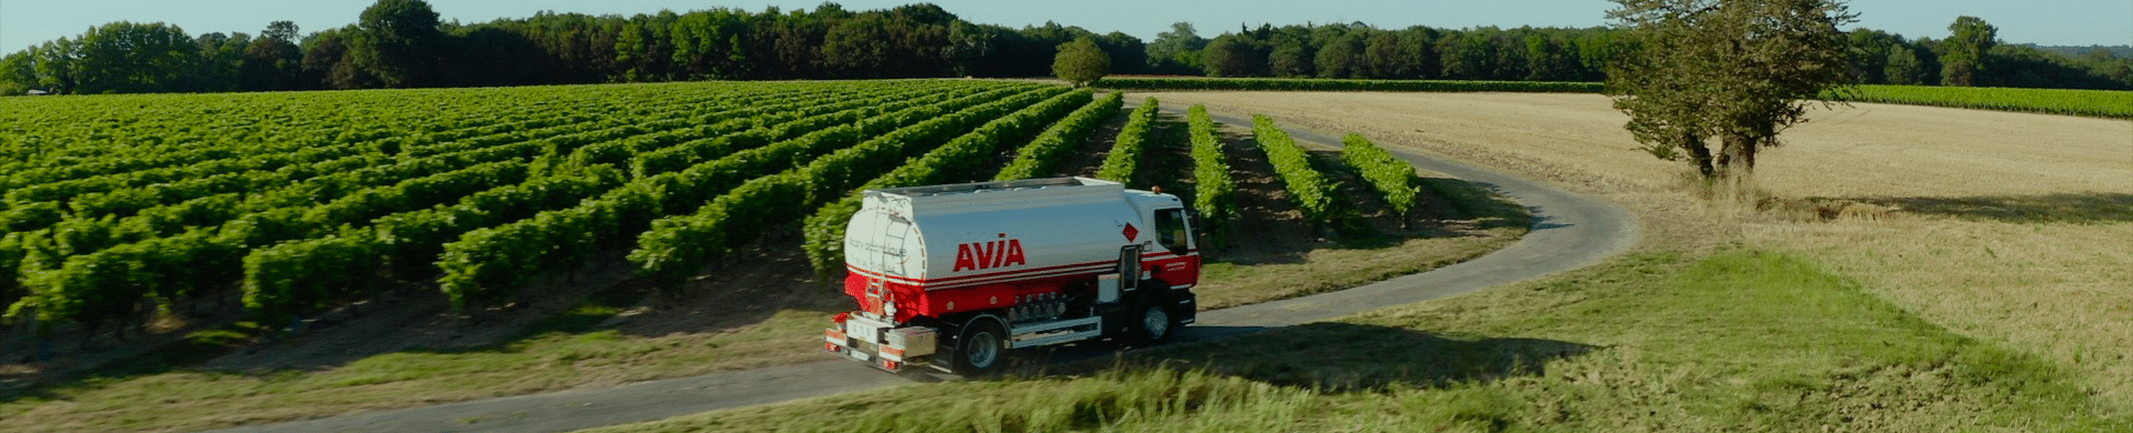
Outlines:
[[[1860,83],[2133,90],[2133,55],[1999,43],[1990,26],[1964,19],[1971,23],[1958,26],[1967,36],[1947,41],[1856,30],[1851,70]],[[1617,34],[1305,23],[1239,26],[1203,38],[1190,23],[1175,23],[1156,41],[1141,41],[1060,23],[971,23],[934,4],[845,11],[834,2],[815,11],[540,13],[456,23],[439,21],[422,0],[380,0],[356,23],[311,34],[299,34],[290,21],[273,21],[260,34],[198,36],[169,23],[107,23],[0,58],[0,92],[1045,77],[1058,45],[1077,38],[1107,51],[1113,75],[1600,81],[1606,64],[1632,49]]]

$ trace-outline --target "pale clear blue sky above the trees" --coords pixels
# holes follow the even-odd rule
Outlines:
[[[258,34],[269,21],[296,21],[303,32],[356,21],[375,0],[0,0],[0,53],[60,36],[77,36],[109,21],[164,21],[190,34]],[[736,6],[815,9],[819,0],[429,0],[446,21],[491,21],[531,17],[535,11],[636,15],[659,9],[691,11]],[[845,0],[851,11],[909,4],[909,0]],[[977,23],[1022,28],[1058,21],[1092,32],[1126,32],[1143,41],[1192,21],[1201,36],[1235,30],[1239,23],[1335,23],[1365,21],[1378,28],[1472,28],[1604,26],[1606,0],[934,0],[949,13]],[[1854,0],[1864,28],[1909,38],[1947,36],[1958,15],[1984,17],[2007,43],[2039,45],[2133,45],[2133,0]]]

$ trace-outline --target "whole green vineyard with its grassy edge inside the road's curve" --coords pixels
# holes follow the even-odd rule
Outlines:
[[[840,269],[851,192],[1075,173],[1094,169],[1075,162],[1090,145],[1111,145],[1105,166],[1145,160],[1120,177],[1201,164],[1175,160],[1192,158],[1186,126],[1156,100],[1120,107],[1028,81],[6,98],[0,431],[218,429],[813,360],[851,299],[798,275]],[[1096,137],[1116,124],[1141,126]],[[1201,158],[1248,151],[1222,143],[1248,132],[1201,134]],[[1229,171],[1194,175],[1235,188]],[[1453,190],[1448,209],[1495,201]],[[1216,262],[1207,303],[1474,258],[1523,215]],[[1252,218],[1267,215],[1224,215]],[[791,294],[697,282],[738,258]],[[732,296],[768,301],[695,316]],[[665,324],[683,331],[631,328]]]

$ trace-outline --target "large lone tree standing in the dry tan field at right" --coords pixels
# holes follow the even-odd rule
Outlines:
[[[1606,79],[1615,109],[1645,151],[1704,179],[1747,179],[1758,149],[1807,122],[1807,100],[1851,83],[1837,28],[1858,15],[1839,0],[1615,2],[1608,17],[1630,28]]]

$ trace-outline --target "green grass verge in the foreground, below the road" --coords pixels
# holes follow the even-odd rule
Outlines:
[[[793,422],[806,420],[806,422]],[[646,431],[2127,431],[2052,365],[1787,254],[1636,254],[1544,282]]]

